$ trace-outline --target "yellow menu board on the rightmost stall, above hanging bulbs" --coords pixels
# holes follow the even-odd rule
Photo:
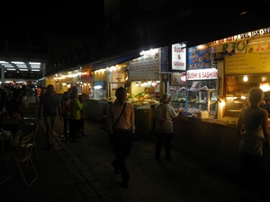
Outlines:
[[[270,73],[270,43],[247,45],[246,54],[225,57],[225,75]]]

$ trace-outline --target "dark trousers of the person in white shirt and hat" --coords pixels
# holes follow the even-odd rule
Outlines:
[[[174,133],[157,133],[157,143],[156,143],[156,158],[160,158],[160,152],[161,152],[161,146],[163,143],[165,143],[165,153],[166,153],[166,158],[169,159],[171,158],[171,149],[172,149],[172,140]]]

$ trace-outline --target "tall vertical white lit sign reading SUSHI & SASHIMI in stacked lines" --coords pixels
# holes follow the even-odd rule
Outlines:
[[[183,44],[172,45],[172,70],[186,70],[186,49]]]

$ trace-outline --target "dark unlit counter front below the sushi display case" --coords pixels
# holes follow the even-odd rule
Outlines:
[[[224,119],[225,120],[225,119]],[[238,173],[240,153],[236,126],[223,120],[194,119],[178,116],[174,119],[173,149],[218,168]],[[270,175],[269,151],[266,173]]]

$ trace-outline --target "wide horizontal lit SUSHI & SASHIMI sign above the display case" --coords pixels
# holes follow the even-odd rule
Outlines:
[[[186,80],[210,80],[218,78],[218,70],[215,68],[197,69],[186,71]]]

